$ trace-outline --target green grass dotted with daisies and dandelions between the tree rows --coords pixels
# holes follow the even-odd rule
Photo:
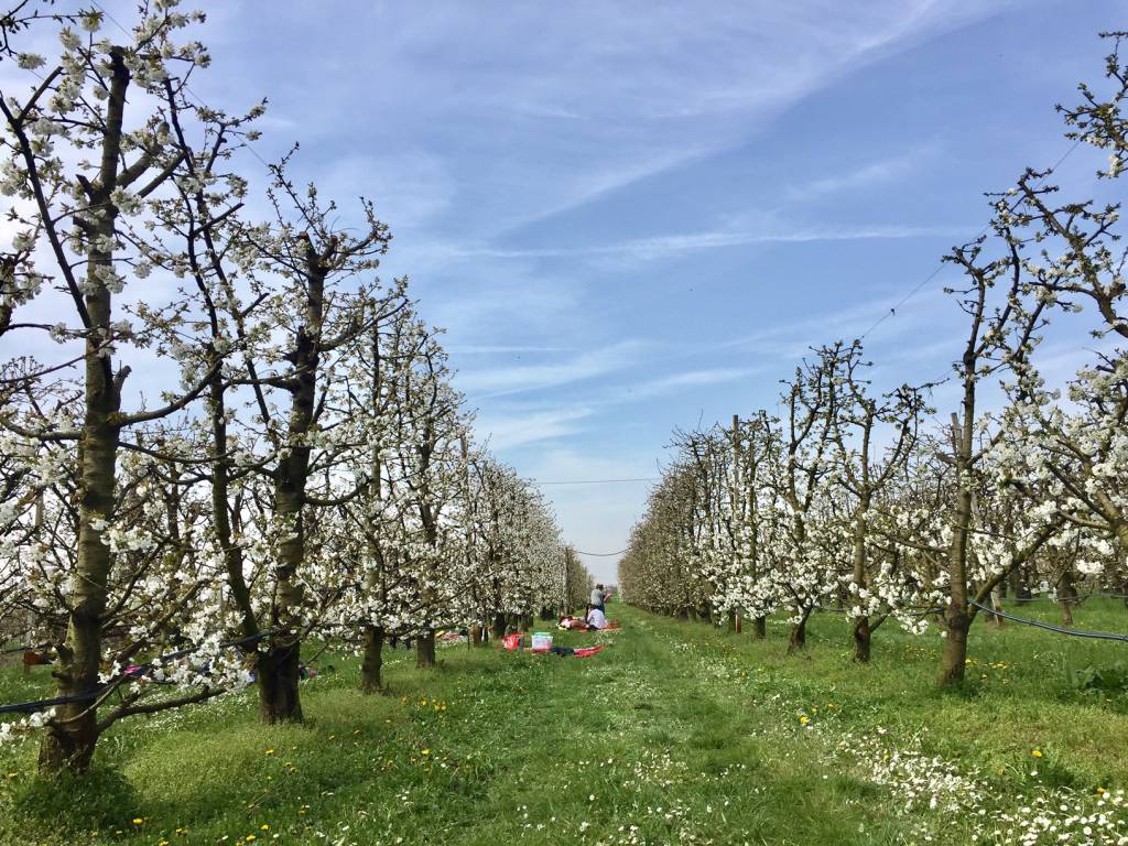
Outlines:
[[[969,681],[942,694],[935,634],[882,628],[858,667],[836,616],[788,658],[783,624],[757,642],[611,615],[590,659],[459,646],[423,673],[393,653],[387,696],[326,655],[306,725],[257,725],[248,695],[130,721],[80,784],[0,750],[0,841],[1128,843],[1128,644],[977,624]],[[1111,600],[1076,617],[1128,631]],[[44,681],[6,671],[0,702]]]

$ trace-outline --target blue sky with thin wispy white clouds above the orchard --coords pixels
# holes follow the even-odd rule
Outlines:
[[[1054,105],[1126,28],[1104,0],[196,7],[194,90],[267,97],[262,157],[299,142],[346,220],[376,202],[478,439],[544,483],[643,479],[544,486],[585,553],[626,546],[673,428],[773,408],[811,345],[942,374],[952,272],[922,283],[1068,150]],[[1061,173],[1096,192],[1086,156]]]

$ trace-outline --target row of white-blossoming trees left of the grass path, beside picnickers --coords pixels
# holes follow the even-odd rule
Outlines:
[[[372,204],[343,215],[292,152],[243,173],[264,107],[192,94],[201,20],[0,19],[24,78],[0,99],[0,637],[44,644],[63,699],[0,735],[39,731],[47,772],[252,680],[263,721],[300,720],[307,638],[355,643],[374,690],[387,637],[428,666],[438,628],[590,590],[536,488],[474,444],[407,281],[376,276]],[[20,49],[51,36],[50,61]]]

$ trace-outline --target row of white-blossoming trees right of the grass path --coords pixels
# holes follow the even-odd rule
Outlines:
[[[1052,171],[1029,169],[992,196],[989,228],[945,256],[964,318],[949,376],[876,390],[861,342],[831,343],[776,409],[677,432],[620,564],[627,601],[739,613],[760,636],[783,613],[792,649],[816,609],[838,609],[858,661],[887,620],[934,624],[949,684],[1004,591],[1056,596],[1069,623],[1078,590],[1126,590],[1128,65],[1123,35],[1108,37],[1105,80],[1059,112],[1067,139],[1108,156],[1111,201],[1063,196]],[[935,397],[953,406],[940,417]]]

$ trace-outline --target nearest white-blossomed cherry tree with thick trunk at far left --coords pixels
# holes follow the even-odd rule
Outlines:
[[[129,572],[129,554],[161,545],[159,536],[139,534],[149,523],[157,526],[156,515],[134,522],[121,475],[123,450],[144,455],[147,444],[160,437],[148,430],[192,403],[210,373],[165,391],[157,405],[141,399],[127,411],[132,365],[147,361],[146,347],[158,327],[149,312],[135,309],[134,324],[121,311],[141,299],[140,280],[151,272],[153,259],[166,257],[160,238],[150,235],[157,204],[186,175],[184,150],[170,127],[191,114],[183,80],[209,61],[199,42],[176,38],[199,18],[179,12],[175,2],[143,2],[139,24],[121,42],[102,34],[100,14],[87,12],[59,20],[62,52],[53,63],[18,53],[11,39],[5,47],[29,82],[27,94],[5,91],[0,98],[7,130],[0,142],[0,191],[12,199],[18,230],[3,261],[11,270],[3,277],[0,325],[6,337],[28,336],[25,349],[44,350],[44,342],[47,347],[53,342],[54,349],[5,382],[8,402],[0,425],[21,439],[20,450],[41,458],[65,452],[76,468],[73,500],[59,503],[70,521],[76,554],[63,567],[65,589],[52,594],[55,610],[67,617],[65,637],[54,650],[59,695],[68,702],[46,719],[41,765],[47,770],[87,767],[98,735],[112,722],[158,707],[127,699],[129,705],[98,714],[106,684],[102,667],[114,666],[104,651],[106,626],[122,608],[136,607],[134,597],[149,584],[118,576],[123,567]],[[32,29],[44,20],[49,18],[33,19]],[[208,116],[197,113],[192,120],[206,122]],[[151,297],[147,291],[144,299]],[[64,306],[69,318],[44,319],[51,309],[65,314]],[[178,319],[175,309],[152,314],[161,315],[161,328]],[[191,335],[192,327],[184,328]],[[79,394],[67,407],[43,402],[44,386],[59,379],[69,380]],[[156,484],[150,470],[138,468],[133,484],[142,485],[142,478]],[[35,485],[46,492],[59,481],[45,475]],[[182,603],[186,619],[178,620],[190,633],[195,631],[192,606]],[[161,609],[153,616],[171,610],[167,605]],[[142,649],[144,628],[131,626],[134,640],[120,650],[124,658]],[[113,680],[114,689],[127,685],[129,679]],[[213,690],[203,682],[195,691],[166,697],[160,707]]]

